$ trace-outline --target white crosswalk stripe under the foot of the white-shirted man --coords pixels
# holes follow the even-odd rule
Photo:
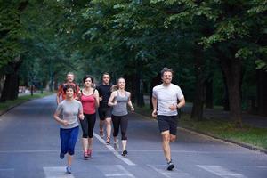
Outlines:
[[[168,178],[171,178],[172,175],[178,175],[179,177],[181,177],[182,175],[185,175],[186,177],[189,177],[189,174],[187,173],[182,173],[181,171],[175,171],[174,170],[172,172],[167,171],[166,170],[166,165],[147,165],[150,166],[150,168],[152,168],[154,171],[158,172],[159,174],[162,174]]]

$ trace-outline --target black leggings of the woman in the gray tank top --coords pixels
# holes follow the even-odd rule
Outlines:
[[[119,126],[120,126],[121,140],[127,140],[126,131],[128,127],[128,118],[125,116],[114,116],[114,115],[111,116],[113,130],[114,130],[113,136],[117,137]]]

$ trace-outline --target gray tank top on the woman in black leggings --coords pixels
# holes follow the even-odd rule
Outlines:
[[[125,93],[125,96],[120,96],[117,91],[117,96],[114,98],[117,101],[117,105],[113,106],[112,114],[114,116],[125,116],[128,114],[127,111],[127,102],[129,100],[128,93]]]

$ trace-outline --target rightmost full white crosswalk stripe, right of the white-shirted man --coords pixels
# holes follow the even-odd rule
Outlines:
[[[198,167],[205,169],[206,171],[216,174],[220,177],[228,178],[231,177],[239,177],[239,178],[245,178],[242,174],[234,173],[226,168],[223,168],[223,166],[214,166],[214,165],[197,165]]]

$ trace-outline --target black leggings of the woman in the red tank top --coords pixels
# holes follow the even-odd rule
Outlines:
[[[85,114],[85,119],[81,120],[81,126],[83,129],[83,138],[93,138],[93,128],[96,120],[96,115],[94,114]]]

